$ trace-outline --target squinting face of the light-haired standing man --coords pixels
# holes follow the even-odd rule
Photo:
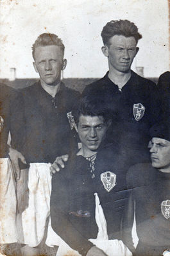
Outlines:
[[[35,48],[35,71],[46,85],[60,82],[61,71],[65,68],[63,52],[59,46],[38,46]]]

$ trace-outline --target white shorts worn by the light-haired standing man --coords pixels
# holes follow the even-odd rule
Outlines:
[[[50,214],[51,164],[33,163],[28,170],[28,207],[22,212],[19,242],[35,247],[44,237]]]

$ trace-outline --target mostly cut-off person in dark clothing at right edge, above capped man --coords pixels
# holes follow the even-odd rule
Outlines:
[[[170,115],[170,72],[167,71],[158,79],[158,90],[161,98],[161,118],[166,120]]]

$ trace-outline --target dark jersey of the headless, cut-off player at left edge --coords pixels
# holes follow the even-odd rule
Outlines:
[[[22,98],[19,93],[0,83],[0,157],[7,157],[7,141],[11,133],[13,148],[20,150],[22,144]]]

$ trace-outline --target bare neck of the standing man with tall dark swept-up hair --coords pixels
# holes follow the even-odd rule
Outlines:
[[[115,85],[118,85],[119,89],[122,89],[123,86],[126,85],[127,81],[130,80],[130,77],[131,71],[128,73],[123,73],[110,69],[108,72],[108,78],[110,78]]]

